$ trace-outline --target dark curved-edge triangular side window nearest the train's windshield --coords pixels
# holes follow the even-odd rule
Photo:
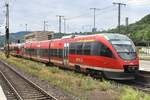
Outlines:
[[[112,58],[113,57],[113,53],[107,46],[102,44],[101,48],[100,48],[100,56],[105,56],[105,57]]]

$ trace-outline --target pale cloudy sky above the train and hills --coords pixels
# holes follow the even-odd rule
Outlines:
[[[5,1],[0,0],[0,31],[4,33]],[[8,0],[7,0],[8,1]],[[43,22],[46,30],[58,32],[58,17],[66,18],[66,31],[91,31],[93,27],[93,10],[96,11],[97,30],[107,30],[118,24],[118,6],[113,2],[125,3],[121,7],[121,24],[129,17],[129,23],[140,20],[150,12],[150,0],[9,0],[10,3],[10,32],[43,31]],[[62,20],[62,32],[63,20]]]

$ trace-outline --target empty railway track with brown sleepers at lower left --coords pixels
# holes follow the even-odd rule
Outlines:
[[[0,82],[8,100],[57,100],[3,61],[0,70]]]

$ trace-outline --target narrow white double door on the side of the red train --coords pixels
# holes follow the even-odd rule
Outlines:
[[[69,55],[69,43],[64,44],[64,51],[63,51],[63,63],[65,67],[68,67],[68,55]]]

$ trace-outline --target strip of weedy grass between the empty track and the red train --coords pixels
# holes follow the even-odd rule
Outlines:
[[[113,81],[93,79],[73,71],[46,66],[40,62],[12,56],[6,59],[3,53],[0,53],[0,59],[32,76],[48,81],[49,84],[81,100],[149,100],[150,98],[149,94],[129,86],[118,85]]]

